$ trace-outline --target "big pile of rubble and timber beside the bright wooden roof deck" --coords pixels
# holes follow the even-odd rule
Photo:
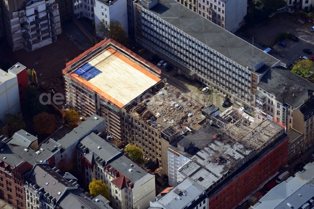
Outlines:
[[[157,94],[134,107],[133,111],[158,130],[168,126],[197,129],[202,121],[202,105],[170,84],[165,84]]]

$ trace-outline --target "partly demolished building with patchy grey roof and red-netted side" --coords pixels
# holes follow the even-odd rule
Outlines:
[[[151,207],[235,208],[287,163],[287,149],[284,128],[270,119],[254,119],[233,107],[220,116],[209,115],[198,130],[177,136],[168,146],[171,191],[191,179],[195,191],[199,185],[205,189],[207,205],[198,205],[204,201],[199,193],[193,193],[190,206],[185,195],[168,198],[174,195],[170,191]]]

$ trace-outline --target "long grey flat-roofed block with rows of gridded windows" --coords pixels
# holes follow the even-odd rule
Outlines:
[[[206,85],[251,111],[263,74],[280,61],[180,3],[134,1],[135,38],[183,65]],[[193,26],[193,27],[192,27]],[[219,43],[219,44],[217,44]]]

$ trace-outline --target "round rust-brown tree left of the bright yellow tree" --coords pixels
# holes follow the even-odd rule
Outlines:
[[[56,129],[56,118],[46,112],[39,113],[33,118],[33,128],[38,134],[51,134]]]

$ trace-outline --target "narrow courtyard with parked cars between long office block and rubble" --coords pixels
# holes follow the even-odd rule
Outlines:
[[[164,60],[165,62],[169,62],[172,67],[177,67],[179,69],[183,68],[183,66],[180,63],[170,59],[169,57],[167,57],[166,55],[160,52],[158,52],[157,54],[154,54],[150,52],[149,50],[146,50],[145,53],[141,54],[141,56],[146,60],[149,60],[149,58],[154,55],[158,56],[159,60]],[[209,95],[207,93],[202,93],[201,91],[198,90],[198,87],[203,85],[202,83],[197,82],[197,81],[191,81],[180,75],[175,76],[174,74],[176,74],[176,69],[174,68],[172,68],[170,71],[166,71],[165,68],[161,66],[158,68],[161,69],[162,79],[166,78],[167,83],[180,89],[182,92],[186,93],[191,99],[196,100],[198,103],[200,103],[203,106],[205,105],[209,106],[211,104],[214,104],[215,106],[219,107],[220,112],[225,111],[227,108],[229,108],[232,105],[234,105],[236,108],[239,108],[239,106],[233,104],[232,101],[229,103],[229,105],[225,105],[224,107],[222,107],[221,104],[225,100],[223,94],[221,94],[217,90],[214,90],[212,95]]]

